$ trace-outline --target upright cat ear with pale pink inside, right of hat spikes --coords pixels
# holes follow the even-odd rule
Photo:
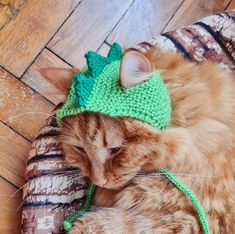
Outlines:
[[[124,88],[134,87],[151,79],[150,61],[140,52],[129,50],[121,61],[120,83]]]

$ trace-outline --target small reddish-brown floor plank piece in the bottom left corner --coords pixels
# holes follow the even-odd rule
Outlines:
[[[19,191],[12,196],[17,189],[3,178],[0,178],[0,188],[0,233],[19,234],[22,208],[20,207],[17,212],[16,210],[21,204],[22,192]]]

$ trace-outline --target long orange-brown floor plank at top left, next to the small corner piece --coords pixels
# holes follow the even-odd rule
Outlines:
[[[79,1],[27,1],[0,31],[0,65],[20,77]]]

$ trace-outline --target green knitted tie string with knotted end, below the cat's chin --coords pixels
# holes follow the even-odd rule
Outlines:
[[[63,222],[63,227],[65,231],[70,231],[74,221],[82,217],[84,213],[91,208],[91,203],[94,194],[95,194],[95,185],[88,184],[86,192],[86,201],[84,202],[83,206],[78,211],[75,211],[74,213],[68,215],[65,221]]]

